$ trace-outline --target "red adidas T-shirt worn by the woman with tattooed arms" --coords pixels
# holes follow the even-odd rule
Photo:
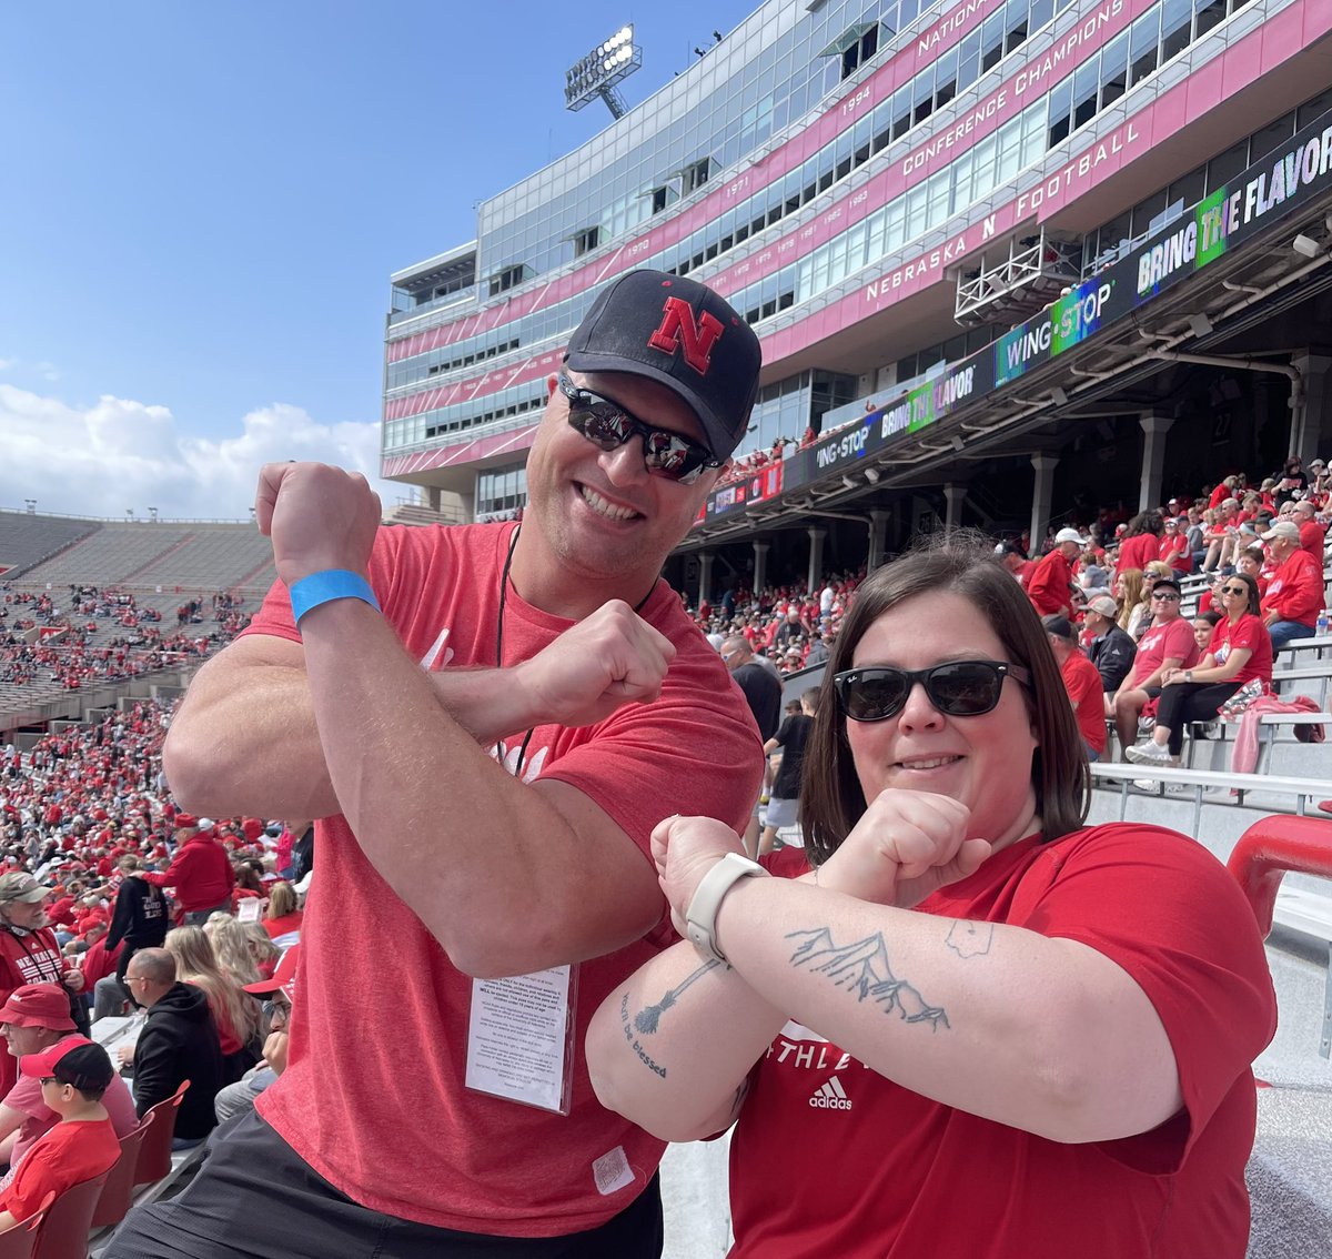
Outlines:
[[[1243,1259],[1249,1063],[1276,999],[1253,911],[1216,858],[1162,827],[1096,826],[1023,839],[919,911],[1114,961],[1160,1015],[1184,1110],[1138,1136],[1062,1144],[911,1092],[787,1022],[731,1138],[730,1259]],[[919,1033],[922,1054],[950,1034]]]

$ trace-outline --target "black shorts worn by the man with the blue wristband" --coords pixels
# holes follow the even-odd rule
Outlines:
[[[497,1238],[396,1219],[334,1188],[254,1111],[185,1191],[131,1211],[103,1259],[659,1259],[661,1182],[598,1228]]]

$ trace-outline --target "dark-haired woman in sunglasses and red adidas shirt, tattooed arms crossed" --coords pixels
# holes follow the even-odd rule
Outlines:
[[[731,1259],[1243,1256],[1257,926],[1195,841],[1084,826],[1088,775],[1034,610],[950,538],[856,593],[803,850],[754,877],[725,823],[657,827],[687,939],[587,1056],[661,1136],[738,1116]]]

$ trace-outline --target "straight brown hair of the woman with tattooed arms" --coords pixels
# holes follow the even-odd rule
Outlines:
[[[968,600],[994,626],[1008,661],[1031,671],[1023,697],[1039,746],[1031,783],[1042,838],[1078,830],[1091,802],[1091,770],[1068,691],[1046,631],[1022,588],[979,534],[952,533],[884,565],[855,592],[823,674],[819,710],[805,751],[801,830],[811,866],[831,857],[864,813],[864,793],[846,739],[846,717],[832,677],[851,667],[866,631],[890,608],[919,594],[948,592]]]

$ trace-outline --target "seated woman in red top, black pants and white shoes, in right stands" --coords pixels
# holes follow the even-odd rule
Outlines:
[[[1272,637],[1263,624],[1257,580],[1233,573],[1220,584],[1220,606],[1207,654],[1188,669],[1162,677],[1156,725],[1143,742],[1124,749],[1135,765],[1177,765],[1184,726],[1211,721],[1241,686],[1265,691],[1272,685]]]

